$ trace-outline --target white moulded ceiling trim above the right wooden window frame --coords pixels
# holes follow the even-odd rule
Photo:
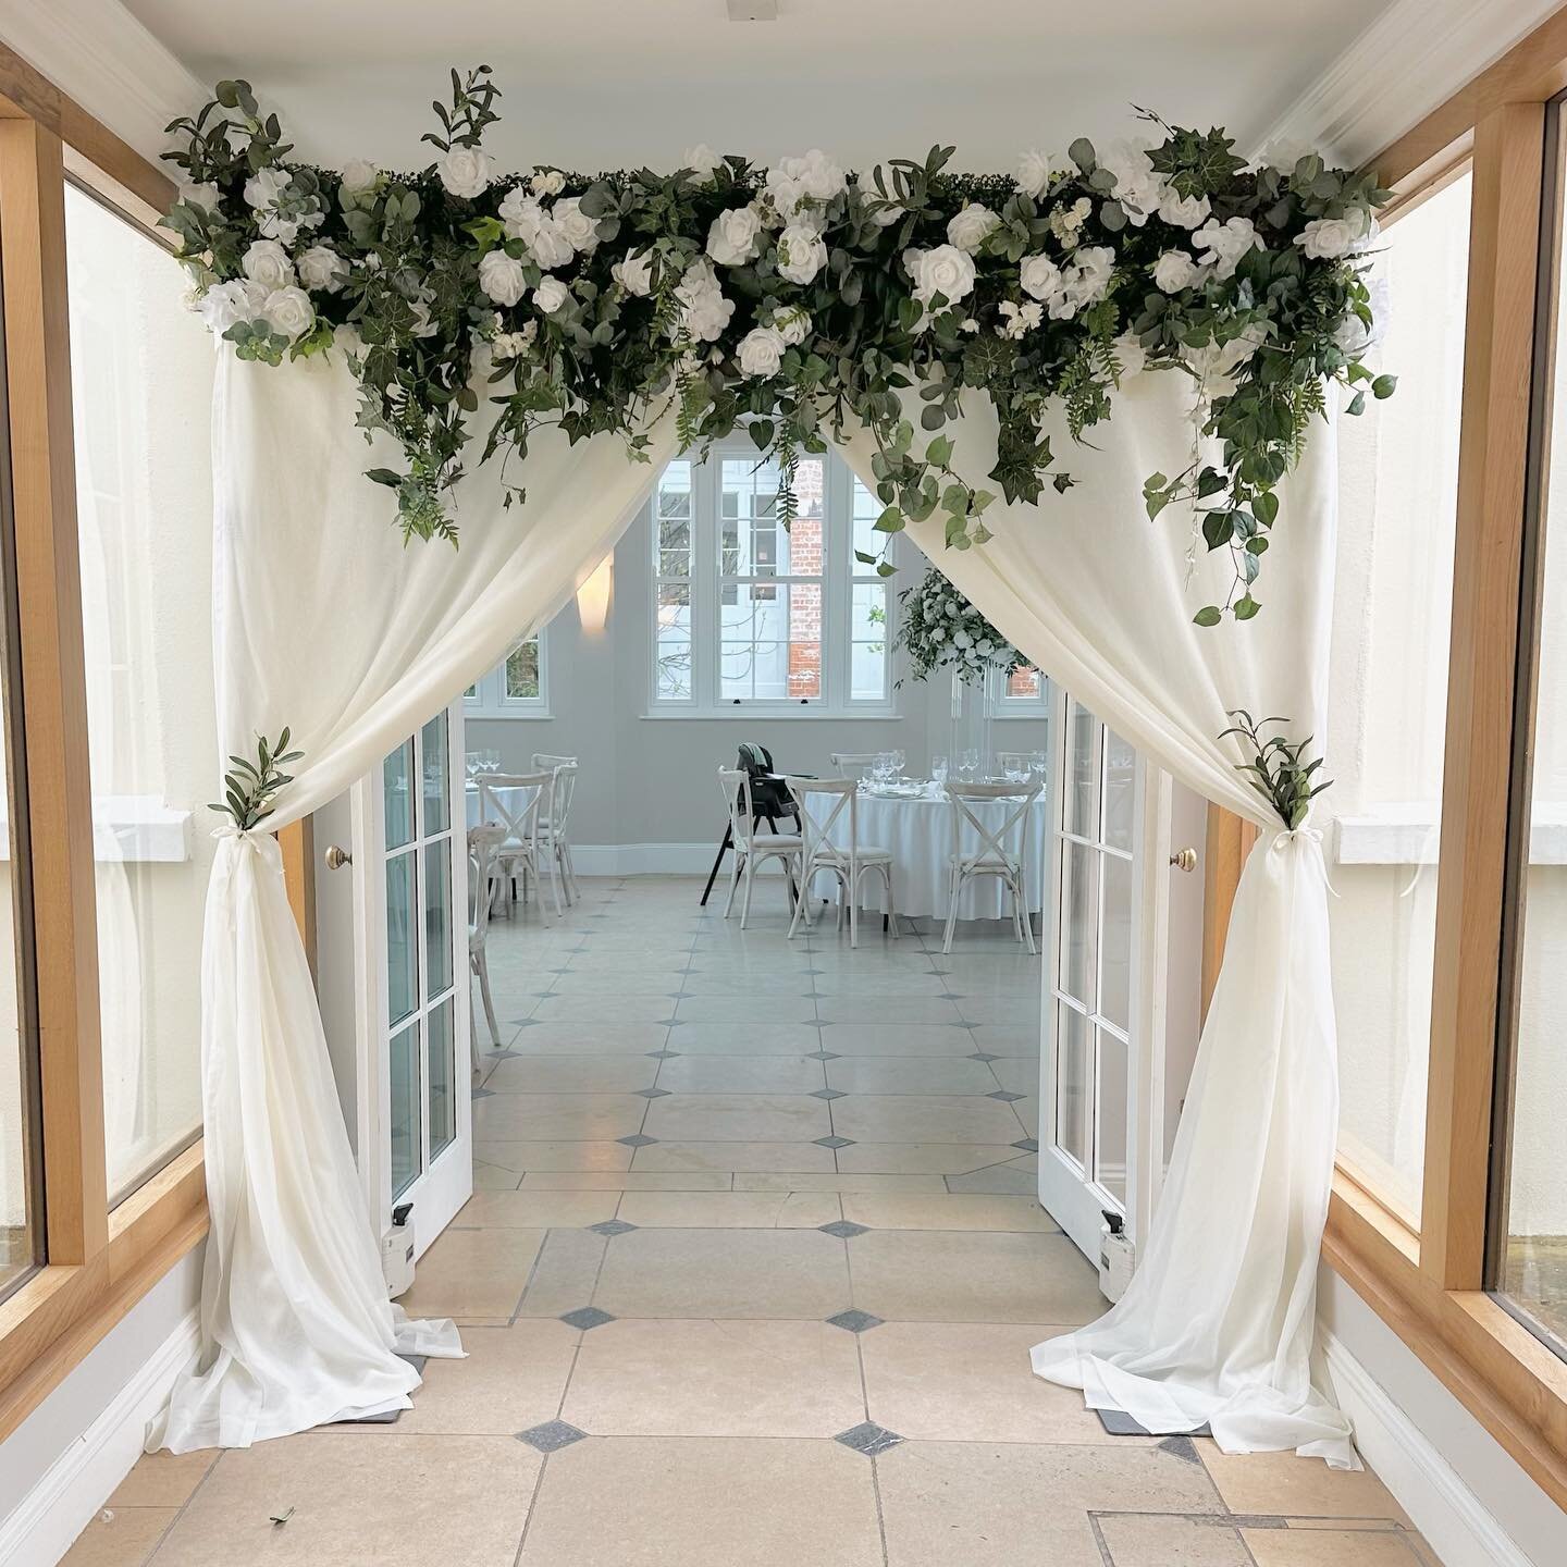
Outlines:
[[[1398,0],[1274,121],[1261,146],[1366,163],[1559,9],[1561,0]]]

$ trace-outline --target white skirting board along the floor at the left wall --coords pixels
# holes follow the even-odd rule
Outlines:
[[[53,1567],[71,1550],[141,1457],[147,1421],[163,1407],[180,1366],[196,1354],[199,1326],[197,1313],[186,1313],[0,1523],[0,1567]]]

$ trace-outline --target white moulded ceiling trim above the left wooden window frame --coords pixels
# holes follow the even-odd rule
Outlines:
[[[210,96],[119,0],[0,0],[0,39],[150,161]]]

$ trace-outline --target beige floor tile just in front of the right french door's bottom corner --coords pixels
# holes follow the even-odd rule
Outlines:
[[[871,1230],[849,1258],[854,1304],[888,1321],[1077,1326],[1108,1310],[1098,1274],[1064,1235]]]

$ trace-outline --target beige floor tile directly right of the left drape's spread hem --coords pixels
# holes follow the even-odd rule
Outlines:
[[[581,1334],[555,1321],[519,1321],[512,1327],[464,1327],[465,1360],[426,1360],[414,1407],[389,1426],[367,1421],[332,1426],[334,1432],[370,1437],[470,1435],[509,1437],[555,1420]],[[387,1462],[395,1460],[390,1449]]]

